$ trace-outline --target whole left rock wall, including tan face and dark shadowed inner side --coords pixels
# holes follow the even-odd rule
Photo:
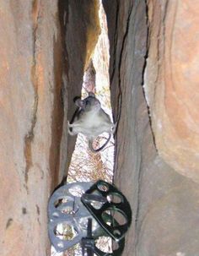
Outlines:
[[[67,119],[100,34],[98,1],[0,8],[0,252],[50,255],[46,206],[67,174]]]

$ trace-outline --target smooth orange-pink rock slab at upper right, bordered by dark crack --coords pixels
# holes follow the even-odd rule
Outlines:
[[[199,3],[148,1],[144,89],[159,155],[199,182]]]

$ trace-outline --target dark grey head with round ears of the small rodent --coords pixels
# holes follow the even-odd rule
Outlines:
[[[98,99],[96,99],[93,92],[89,92],[89,96],[84,100],[78,99],[75,101],[78,107],[81,107],[84,111],[98,111],[100,110],[101,104]]]

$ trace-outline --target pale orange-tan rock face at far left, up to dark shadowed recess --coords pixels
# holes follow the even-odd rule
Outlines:
[[[62,133],[57,2],[1,1],[0,13],[0,253],[49,255]]]

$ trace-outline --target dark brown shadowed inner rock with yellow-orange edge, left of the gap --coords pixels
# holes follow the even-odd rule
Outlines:
[[[100,35],[99,3],[97,0],[60,0],[59,9],[61,23],[64,25],[66,115],[63,126],[67,128],[67,119],[71,121],[77,107],[73,100],[81,95],[83,72],[89,66],[90,57]],[[62,166],[65,172],[60,173],[60,179],[67,174],[66,166],[69,166],[76,139],[76,137],[67,137],[67,130],[64,133],[63,144],[67,144],[67,163]]]

